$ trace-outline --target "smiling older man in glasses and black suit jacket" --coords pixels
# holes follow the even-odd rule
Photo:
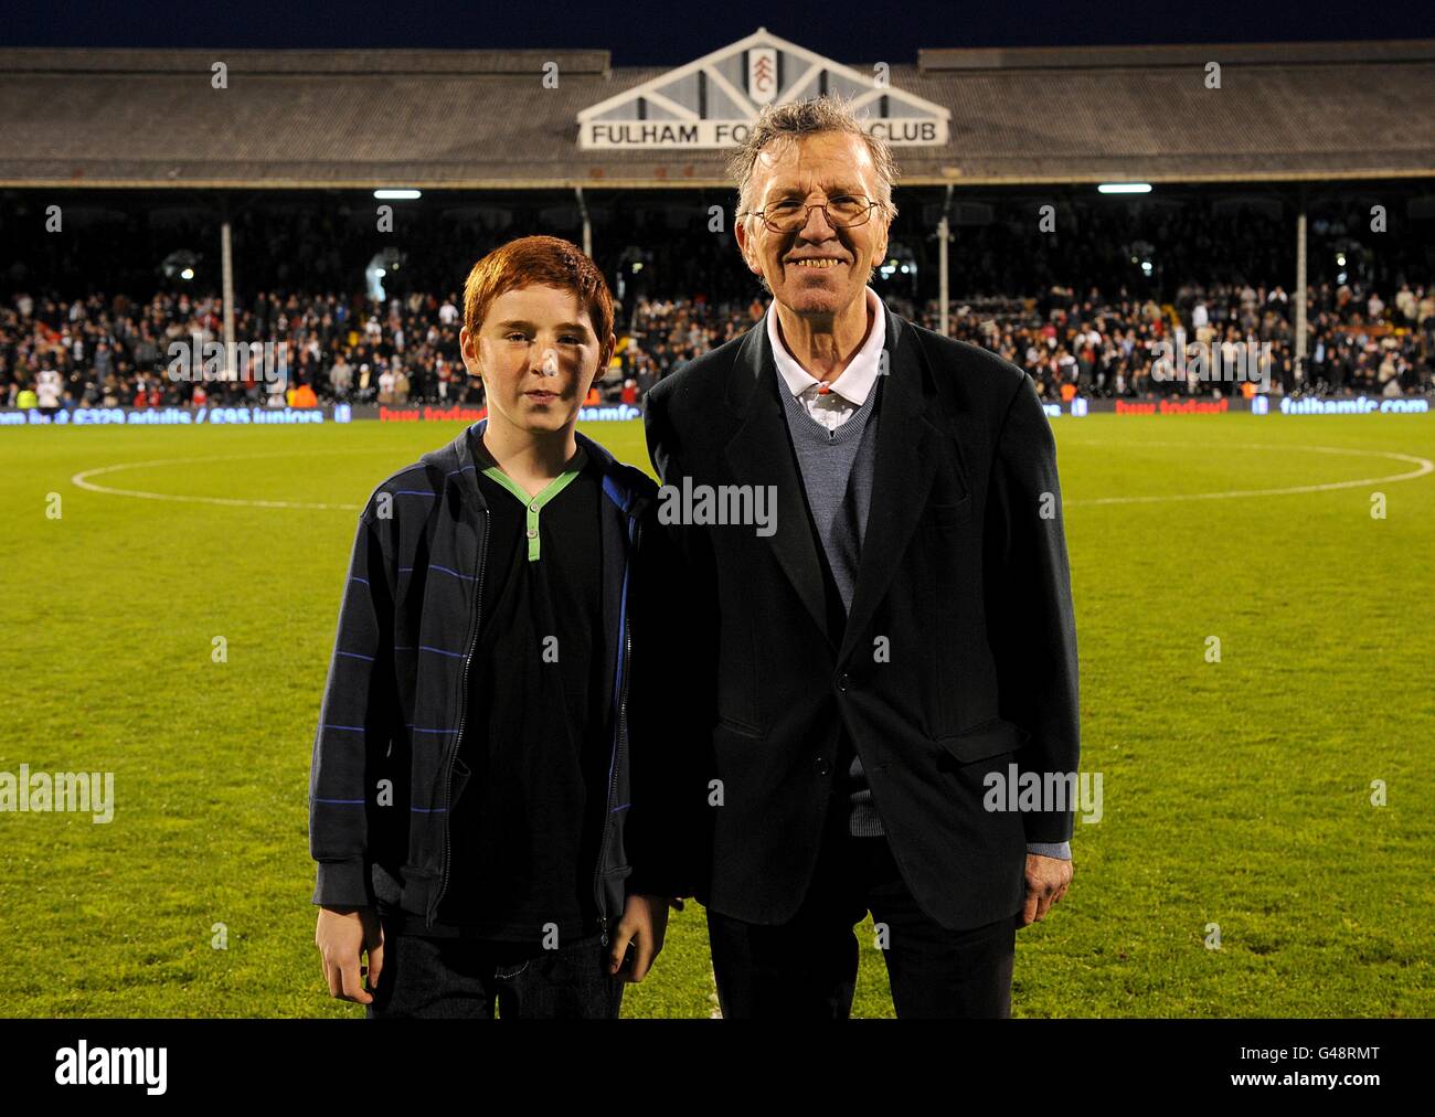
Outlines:
[[[898,1015],[1006,1016],[1072,877],[1072,804],[1009,788],[1078,765],[1052,434],[1020,369],[867,286],[895,164],[844,105],[766,109],[732,169],[772,304],[646,415],[667,485],[776,498],[775,533],[674,528],[722,1011],[847,1016],[871,912]]]

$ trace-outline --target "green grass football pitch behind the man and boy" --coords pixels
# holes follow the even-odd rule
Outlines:
[[[1091,416],[1055,429],[1082,768],[1104,774],[1105,817],[1076,823],[1068,897],[1017,938],[1013,1012],[1435,1015],[1435,475],[1098,503],[1408,472],[1380,452],[1435,458],[1435,421]],[[93,480],[357,505],[456,431],[0,431],[0,771],[113,771],[116,795],[108,826],[0,814],[0,1015],[362,1014],[321,982],[307,850],[354,513],[144,500],[70,478],[172,459]],[[640,424],[588,432],[646,465]],[[225,663],[211,660],[215,636]],[[1372,780],[1388,805],[1370,805]],[[211,945],[215,925],[227,949]],[[858,936],[854,1014],[890,1015],[870,919]],[[713,1005],[689,905],[624,1014]]]

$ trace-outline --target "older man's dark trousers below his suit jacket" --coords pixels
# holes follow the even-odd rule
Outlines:
[[[728,1019],[829,1018],[852,1011],[857,938],[867,915],[887,926],[883,956],[898,1016],[1007,1018],[1020,913],[949,930],[923,912],[885,837],[851,837],[847,804],[834,800],[796,915],[781,925],[746,923],[709,909],[718,1001]]]

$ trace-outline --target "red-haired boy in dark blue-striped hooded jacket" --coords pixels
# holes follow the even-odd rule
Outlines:
[[[310,774],[314,940],[369,1018],[613,1018],[683,894],[629,748],[633,645],[667,658],[633,636],[657,487],[574,429],[616,345],[577,247],[484,257],[459,342],[488,418],[359,518]]]

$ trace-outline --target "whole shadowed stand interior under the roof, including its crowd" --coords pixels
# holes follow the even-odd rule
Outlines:
[[[689,227],[695,214],[707,220],[713,201],[644,202],[596,215],[601,243],[594,251],[620,303],[617,366],[604,379],[603,398],[640,399],[763,313],[766,296],[743,268],[730,231]],[[1158,346],[1178,340],[1204,343],[1213,355],[1269,345],[1271,388],[1287,393],[1431,391],[1435,287],[1418,237],[1382,240],[1375,253],[1352,240],[1359,231],[1355,210],[1312,223],[1307,360],[1297,369],[1293,296],[1271,279],[1293,271],[1289,214],[1279,207],[1201,198],[1059,204],[1055,228],[1038,235],[1035,201],[1012,200],[994,207],[994,220],[953,227],[949,332],[1025,368],[1048,398],[1231,391],[1218,379],[1158,378]],[[904,202],[891,234],[894,260],[910,258],[910,268],[888,268],[874,287],[898,313],[936,329],[940,316],[927,297],[934,286],[933,214],[924,208],[931,205]],[[455,277],[519,235],[522,223],[574,235],[565,223],[577,210],[449,208],[423,220],[400,212],[395,237],[377,234],[360,204],[238,211],[231,218],[237,380],[195,372],[224,336],[212,258],[191,283],[174,276],[144,281],[116,264],[113,274],[106,271],[113,283],[108,293],[89,287],[86,260],[96,254],[152,260],[201,233],[212,238],[192,214],[166,224],[162,212],[17,243],[13,260],[29,263],[0,273],[0,406],[16,406],[46,370],[59,375],[66,406],[476,403],[481,386],[459,355]],[[395,258],[405,263],[385,279],[380,296],[372,277],[367,287],[353,277],[386,244],[399,246]],[[1347,256],[1349,274],[1336,274],[1335,261],[1346,268]],[[1198,284],[1192,277],[1218,280]],[[179,375],[177,345],[189,352],[188,372]],[[221,363],[230,362],[214,366]],[[44,383],[50,389],[55,380]]]

